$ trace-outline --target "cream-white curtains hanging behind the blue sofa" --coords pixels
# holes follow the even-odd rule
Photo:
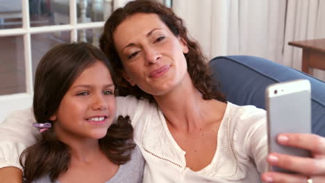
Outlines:
[[[173,8],[209,59],[254,55],[301,70],[302,49],[288,42],[325,38],[325,0],[174,0]]]

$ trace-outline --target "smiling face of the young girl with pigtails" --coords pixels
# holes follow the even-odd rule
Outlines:
[[[54,130],[61,140],[101,139],[115,116],[113,80],[103,62],[85,69],[51,116]]]

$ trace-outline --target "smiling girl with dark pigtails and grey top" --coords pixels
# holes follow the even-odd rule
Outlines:
[[[24,182],[141,182],[144,160],[128,116],[115,118],[115,75],[86,43],[48,51],[35,74],[37,142],[24,150]]]

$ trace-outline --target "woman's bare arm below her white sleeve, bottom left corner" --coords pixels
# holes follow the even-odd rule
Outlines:
[[[22,171],[16,167],[0,168],[1,183],[22,183]]]

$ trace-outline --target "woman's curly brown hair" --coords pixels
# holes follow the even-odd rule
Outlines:
[[[134,95],[137,98],[147,98],[154,101],[151,94],[143,92],[138,86],[132,87],[122,76],[123,64],[120,60],[115,47],[113,33],[117,26],[121,24],[127,17],[138,12],[155,13],[160,17],[169,30],[177,37],[182,37],[188,45],[189,51],[185,54],[188,63],[188,73],[192,79],[194,87],[203,95],[203,99],[217,99],[226,103],[226,98],[219,91],[216,81],[211,76],[207,59],[203,56],[199,44],[188,37],[188,30],[183,25],[183,20],[175,15],[175,13],[166,6],[154,1],[131,1],[126,3],[124,8],[118,8],[113,12],[105,23],[103,34],[100,39],[101,50],[106,54],[108,60],[112,62],[118,75],[119,89],[118,94],[121,96]]]

